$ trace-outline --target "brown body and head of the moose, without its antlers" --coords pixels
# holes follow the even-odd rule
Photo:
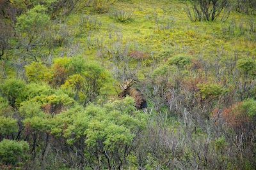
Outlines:
[[[123,90],[118,96],[124,98],[125,96],[131,96],[134,98],[135,106],[137,109],[147,109],[147,101],[140,90],[134,88],[128,88]]]

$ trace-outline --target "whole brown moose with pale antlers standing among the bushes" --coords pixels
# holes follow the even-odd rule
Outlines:
[[[122,92],[118,94],[118,97],[124,98],[125,96],[131,96],[134,98],[135,106],[137,109],[142,109],[143,111],[147,111],[147,101],[143,94],[141,94],[140,90],[131,88],[131,86],[135,83],[135,80],[126,80],[124,83],[118,85]]]

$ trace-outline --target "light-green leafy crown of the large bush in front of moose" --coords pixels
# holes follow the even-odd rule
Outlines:
[[[125,152],[128,151],[122,148],[132,147],[136,134],[147,124],[147,116],[136,111],[134,99],[126,97],[122,101],[114,101],[104,106],[90,104],[84,109],[74,107],[56,115],[49,124],[51,133],[56,136],[63,135],[68,145],[81,144],[83,141],[86,159],[97,159],[90,152],[95,150],[103,159],[100,161],[105,162],[102,150],[109,154],[111,160],[115,160],[115,157],[121,160],[127,157]]]

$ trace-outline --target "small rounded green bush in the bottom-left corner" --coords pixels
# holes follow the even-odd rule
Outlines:
[[[16,166],[28,159],[29,145],[26,141],[3,139],[0,142],[0,163]]]

